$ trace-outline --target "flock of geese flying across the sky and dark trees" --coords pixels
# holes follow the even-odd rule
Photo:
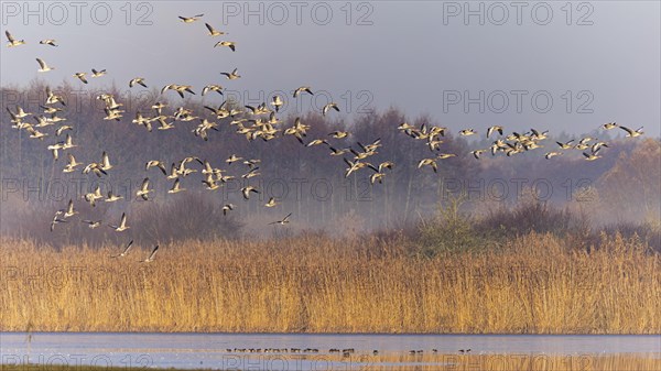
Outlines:
[[[180,20],[183,23],[191,24],[199,21],[199,19],[204,17],[204,14],[197,14],[194,17],[180,17]],[[208,35],[216,37],[220,35],[225,35],[225,32],[218,31],[214,29],[209,23],[205,23],[206,29],[208,31]],[[9,47],[18,47],[26,44],[24,40],[19,40],[12,36],[9,31],[6,31],[8,46]],[[47,45],[52,47],[57,47],[58,44],[53,39],[46,39],[40,41],[40,44]],[[237,43],[232,41],[218,41],[214,47],[227,47],[231,52],[236,52]],[[39,64],[39,73],[48,73],[55,69],[55,67],[50,66],[43,58],[37,57],[36,62]],[[90,68],[89,76],[91,78],[101,78],[106,76],[108,72],[106,69],[96,69]],[[235,80],[241,78],[239,75],[238,68],[235,68],[231,72],[221,73],[223,76],[227,78],[227,80]],[[82,84],[88,84],[87,80],[88,74],[86,72],[76,72],[73,74],[73,77],[77,78]],[[147,79],[144,77],[134,77],[129,81],[129,88],[136,88],[141,86],[143,88],[148,87]],[[196,95],[193,86],[189,85],[180,85],[180,84],[169,84],[165,85],[161,89],[161,95],[164,96],[167,91],[176,92],[181,98],[185,98],[187,95]],[[207,85],[202,89],[202,96],[207,94],[217,92],[220,96],[224,96],[224,87],[220,85],[212,84]],[[314,95],[313,89],[310,86],[301,86],[293,90],[292,96],[294,98],[300,95]],[[96,99],[104,102],[104,120],[109,121],[120,121],[126,111],[122,109],[123,103],[118,102],[112,94],[100,94],[96,97]],[[346,145],[346,140],[351,137],[351,133],[348,131],[334,131],[328,133],[327,138],[317,138],[317,139],[307,139],[307,131],[310,130],[310,126],[304,123],[303,120],[297,117],[293,120],[292,123],[286,124],[279,117],[281,107],[283,106],[284,100],[281,96],[273,96],[269,103],[262,102],[261,105],[253,106],[245,106],[242,108],[235,107],[235,105],[230,105],[227,101],[224,101],[218,107],[209,107],[204,106],[212,116],[216,120],[229,119],[229,126],[236,127],[236,133],[239,135],[243,135],[248,141],[262,140],[270,141],[274,139],[282,139],[285,137],[293,137],[296,141],[299,141],[302,145],[306,148],[313,146],[325,146],[329,151],[330,156],[342,157],[344,163],[346,164],[346,170],[344,172],[344,176],[348,177],[351,174],[357,174],[364,170],[370,170],[371,174],[369,175],[369,179],[371,184],[382,183],[388,171],[391,171],[394,166],[394,163],[391,161],[380,162],[379,164],[372,164],[369,160],[378,153],[378,149],[382,145],[380,139],[373,140],[371,143],[360,143],[356,142],[355,145]],[[230,107],[231,106],[231,107]],[[67,163],[64,165],[62,172],[63,173],[73,173],[76,171],[80,171],[83,174],[93,173],[97,177],[107,176],[108,173],[115,168],[112,164],[110,155],[102,151],[100,155],[100,161],[88,161],[88,162],[79,162],[76,160],[74,154],[68,152],[71,149],[77,148],[77,144],[74,144],[74,139],[69,131],[74,128],[72,126],[66,124],[66,118],[61,114],[67,108],[65,97],[56,94],[50,87],[46,87],[46,99],[43,105],[40,106],[43,110],[43,113],[32,113],[26,112],[23,108],[17,106],[12,111],[9,107],[7,111],[9,112],[10,120],[13,129],[18,129],[19,131],[23,130],[29,134],[29,139],[45,141],[46,138],[62,138],[65,132],[66,135],[64,139],[55,141],[54,143],[50,143],[46,145],[46,149],[51,151],[53,154],[53,159],[57,161],[59,159],[61,152],[66,152]],[[195,116],[193,110],[187,109],[185,107],[178,107],[173,109],[170,113],[166,112],[169,105],[164,101],[156,101],[151,107],[150,112],[136,112],[134,119],[131,121],[138,127],[144,127],[144,129],[149,132],[153,130],[154,126],[156,130],[166,131],[175,128],[176,126],[184,124],[186,122],[197,122],[197,126],[194,127],[191,132],[204,141],[208,141],[213,131],[219,131],[219,123],[212,121],[207,118],[202,118]],[[339,112],[340,109],[337,103],[329,102],[322,109],[322,114],[327,116],[332,110]],[[28,118],[32,118],[34,122],[26,121]],[[48,129],[50,128],[50,129]],[[619,128],[624,130],[627,135],[630,138],[640,137],[643,134],[642,128],[632,130],[626,127],[622,127],[615,122],[605,123],[600,127],[604,130],[611,130]],[[437,126],[427,126],[425,123],[420,127],[411,126],[407,122],[401,123],[398,127],[399,131],[404,133],[405,135],[421,141],[424,145],[430,150],[431,155],[429,157],[422,159],[418,162],[418,168],[431,167],[434,172],[438,171],[438,161],[443,161],[446,159],[457,156],[456,153],[441,153],[441,144],[444,142],[443,138],[446,135],[447,128],[437,127]],[[50,130],[53,130],[50,132]],[[517,133],[512,132],[509,134],[505,133],[505,129],[501,126],[492,126],[487,129],[486,138],[494,138],[494,142],[490,148],[487,149],[478,149],[470,152],[475,159],[479,160],[480,156],[490,152],[492,156],[497,154],[503,153],[507,156],[513,156],[519,153],[533,151],[535,149],[544,148],[543,141],[548,139],[548,131],[540,132],[535,129],[531,129],[529,132]],[[477,135],[478,131],[475,129],[464,129],[458,132],[460,137],[470,137]],[[604,141],[599,141],[593,138],[583,138],[578,141],[572,140],[566,143],[556,142],[557,149],[546,152],[544,154],[545,159],[552,159],[554,156],[562,155],[566,151],[581,151],[585,160],[595,161],[599,157],[600,151],[603,148],[608,148],[608,144]],[[225,160],[225,163],[229,166],[232,163],[241,162],[247,166],[246,172],[240,175],[243,179],[249,179],[256,176],[259,176],[259,166],[261,160],[259,159],[249,159],[242,157],[237,154],[230,155]],[[197,164],[198,167],[192,167],[193,164]],[[203,176],[201,179],[201,184],[205,189],[216,190],[221,187],[229,179],[235,178],[235,175],[228,175],[227,168],[220,168],[212,164],[208,160],[203,160],[197,156],[187,156],[182,159],[178,162],[173,162],[170,165],[160,160],[151,160],[145,163],[144,171],[150,172],[152,168],[159,170],[162,175],[172,182],[172,187],[167,190],[167,194],[178,194],[185,192],[186,188],[182,186],[182,179],[186,176],[189,176],[194,173],[198,173]],[[236,166],[235,166],[236,168]],[[136,190],[136,199],[139,200],[149,200],[150,196],[154,193],[154,189],[150,187],[150,177],[144,177],[140,187]],[[260,190],[253,186],[246,185],[241,188],[241,194],[245,200],[250,199],[251,194],[259,194]],[[89,192],[83,195],[83,200],[88,203],[91,207],[95,207],[97,203],[113,203],[122,199],[122,196],[112,194],[111,189],[107,189],[106,194],[104,194],[100,189],[100,186],[97,186],[95,190]],[[269,201],[263,205],[268,208],[273,208],[280,205],[273,197],[269,199]],[[223,206],[223,214],[227,215],[229,211],[232,211],[237,208],[235,204],[226,204]],[[55,212],[51,221],[51,231],[53,231],[56,225],[66,223],[69,219],[77,215],[78,211],[75,209],[75,203],[73,199],[68,201],[66,209],[61,209]],[[280,220],[275,220],[270,222],[269,225],[280,225],[284,226],[290,223],[290,218],[292,214],[288,214],[284,218]],[[90,229],[98,228],[102,225],[101,220],[89,220],[89,219],[80,219],[82,222],[86,223]],[[130,229],[130,226],[127,221],[127,215],[123,212],[117,225],[107,225],[109,228],[112,228],[117,232],[122,232]],[[123,258],[126,257],[132,247],[132,241],[122,250],[121,253],[117,255],[112,255],[112,258]],[[158,252],[159,245],[153,248],[150,255],[141,260],[141,262],[152,262]]]

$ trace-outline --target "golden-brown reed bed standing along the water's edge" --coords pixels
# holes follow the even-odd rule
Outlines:
[[[121,247],[1,242],[2,331],[660,334],[659,254],[529,234],[419,259],[405,238]]]

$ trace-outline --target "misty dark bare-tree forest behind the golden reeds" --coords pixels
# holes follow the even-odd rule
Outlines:
[[[95,99],[101,91],[75,94],[67,85],[52,88],[67,100],[66,107],[54,105],[63,109],[57,117],[66,121],[43,128],[42,131],[48,134],[43,140],[30,139],[24,130],[12,129],[8,110],[14,112],[20,106],[33,116],[48,116],[40,108],[46,99],[46,86],[35,81],[29,88],[1,89],[0,190],[3,233],[23,237],[47,233],[53,214],[65,208],[69,199],[74,199],[82,219],[117,222],[119,216],[127,212],[129,223],[134,229],[141,225],[148,229],[147,221],[139,221],[139,218],[161,220],[161,223],[150,225],[153,234],[161,233],[159,228],[184,228],[173,223],[185,226],[185,220],[199,218],[214,222],[212,228],[217,226],[226,236],[235,236],[241,227],[256,232],[289,212],[292,212],[290,226],[295,230],[324,229],[342,234],[347,231],[401,228],[435,212],[440,204],[458,195],[466,200],[462,206],[463,211],[476,215],[511,208],[525,195],[532,195],[538,201],[559,207],[578,207],[588,212],[594,222],[641,221],[659,217],[659,139],[647,135],[611,139],[607,131],[599,129],[604,122],[594,122],[594,130],[583,135],[555,133],[553,128],[534,128],[539,131],[550,130],[548,139],[541,142],[544,148],[507,156],[501,152],[491,155],[488,151],[495,139],[494,135],[486,138],[489,126],[486,122],[475,127],[478,134],[467,140],[452,130],[449,123],[436,122],[429,117],[409,117],[407,112],[394,108],[355,114],[350,121],[342,112],[330,111],[326,116],[308,112],[300,117],[301,122],[310,126],[303,142],[325,139],[328,144],[306,146],[293,135],[282,135],[282,132],[269,141],[259,138],[248,140],[245,134],[236,132],[237,126],[230,124],[231,118],[217,119],[203,107],[198,96],[180,99],[173,94],[167,95],[166,99],[160,91],[152,90],[142,98],[124,100],[122,94],[112,88],[105,92],[113,94],[126,112],[119,120],[104,120],[104,102]],[[192,116],[218,123],[217,131],[208,131],[208,140],[205,141],[193,133],[199,119],[174,121],[175,128],[172,130],[158,130],[156,123],[151,132],[144,126],[132,122],[137,111],[144,116],[155,114],[150,107],[156,100],[167,103],[163,109],[164,114],[172,114],[176,108],[185,107],[192,110]],[[217,107],[215,102],[207,105]],[[227,107],[238,106],[229,102]],[[280,119],[282,122],[278,128],[286,129],[292,127],[295,117],[281,113]],[[24,120],[36,123],[31,117]],[[169,122],[172,121],[169,119]],[[425,124],[448,126],[451,129],[433,153],[424,141],[398,130],[403,122],[418,128]],[[61,124],[71,126],[72,130],[56,137],[55,129]],[[337,130],[346,130],[350,135],[332,138],[329,133]],[[505,134],[510,132],[506,126]],[[61,151],[59,159],[55,161],[46,148],[63,141],[67,133],[77,146]],[[546,152],[561,151],[556,141],[578,141],[585,137],[608,143],[608,148],[599,152],[603,157],[586,161],[579,150],[565,150],[563,155],[549,160],[544,157]],[[377,149],[377,154],[365,161],[375,166],[386,161],[394,164],[392,170],[383,171],[386,175],[382,183],[370,183],[370,176],[375,174],[371,168],[361,168],[345,177],[347,164],[343,157],[353,161],[354,155],[350,152],[330,155],[330,146],[336,150],[349,146],[359,149],[358,142],[365,145],[376,140],[380,140],[381,146]],[[487,151],[476,159],[470,153],[476,149]],[[100,161],[104,151],[109,154],[113,165],[108,175],[97,177],[94,173],[82,174],[80,170],[86,164]],[[67,163],[66,153],[72,153],[83,166],[73,173],[63,173]],[[437,173],[429,166],[418,167],[422,159],[438,153],[455,156],[437,160]],[[226,159],[232,154],[245,160],[260,160],[256,164],[259,167],[256,172],[260,175],[241,178],[249,167],[242,161],[228,164]],[[207,160],[236,178],[219,189],[207,190],[202,183],[202,166],[193,161],[187,167],[197,170],[197,173],[181,179],[181,187],[187,190],[172,195],[167,194],[172,181],[166,179],[156,167],[145,171],[148,161],[162,161],[170,171],[171,163],[178,163],[186,156]],[[150,178],[151,187],[155,189],[149,201],[136,198],[136,190],[145,177]],[[82,199],[82,195],[94,190],[99,184],[104,195],[112,190],[124,199],[111,204],[100,201],[96,207],[90,207]],[[240,188],[246,185],[254,186],[260,194],[253,194],[249,200],[245,200]],[[266,208],[264,204],[270,197],[281,205]],[[224,216],[221,208],[226,204],[236,205],[236,209]],[[83,230],[86,226],[75,228]],[[191,229],[196,228],[191,226]],[[106,236],[112,231],[102,233]]]

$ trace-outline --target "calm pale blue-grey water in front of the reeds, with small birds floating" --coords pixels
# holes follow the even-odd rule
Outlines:
[[[0,334],[1,361],[20,365],[42,364],[133,365],[145,368],[209,368],[217,370],[360,370],[367,365],[430,364],[438,354],[472,353],[565,354],[647,353],[661,357],[661,336],[509,336],[509,335],[281,335],[281,334]],[[306,348],[318,353],[240,352],[239,349]],[[329,349],[354,348],[349,357]],[[237,349],[237,351],[235,351]],[[379,350],[379,358],[372,351]],[[228,351],[229,350],[229,351]],[[410,356],[410,350],[423,350]],[[386,362],[392,356],[395,362]],[[448,358],[437,357],[448,364]],[[380,362],[380,363],[375,363]],[[17,367],[15,370],[23,370]],[[11,370],[9,368],[8,370]]]

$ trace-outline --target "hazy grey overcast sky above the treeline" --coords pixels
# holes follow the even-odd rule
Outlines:
[[[455,130],[586,132],[617,121],[660,134],[660,2],[465,3],[154,1],[129,11],[126,1],[4,1],[2,32],[28,44],[1,47],[1,84],[39,76],[79,86],[75,72],[106,68],[88,88],[128,89],[142,76],[150,88],[186,84],[198,96],[220,84],[257,103],[308,85],[317,100],[303,97],[299,110],[332,99],[343,114],[394,106]],[[207,35],[205,22],[228,34]],[[220,40],[236,53],[214,48]],[[37,74],[35,57],[56,69]],[[235,67],[240,79],[219,74]]]

